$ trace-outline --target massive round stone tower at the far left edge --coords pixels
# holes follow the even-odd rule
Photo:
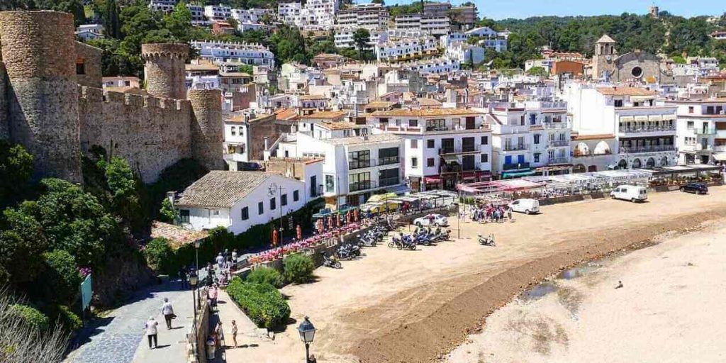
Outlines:
[[[75,30],[68,13],[0,12],[10,140],[35,156],[35,178],[83,181]]]

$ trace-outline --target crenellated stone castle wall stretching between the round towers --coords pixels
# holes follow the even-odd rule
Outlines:
[[[83,148],[99,145],[126,158],[144,182],[156,181],[164,168],[192,157],[189,101],[120,92],[104,96],[102,89],[81,86],[78,94]]]

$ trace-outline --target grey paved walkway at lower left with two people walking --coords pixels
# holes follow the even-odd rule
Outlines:
[[[200,277],[205,276],[205,272],[200,271]],[[177,316],[172,324],[174,330],[166,330],[161,315],[164,298],[168,298],[174,306]],[[105,317],[95,319],[89,327],[81,330],[81,338],[76,342],[81,346],[71,352],[64,362],[184,362],[184,340],[192,325],[193,314],[192,292],[189,289],[182,290],[178,280],[148,287],[136,293],[125,305],[110,311]],[[151,316],[159,322],[159,347],[152,349],[153,356],[147,358],[150,352],[144,325]]]

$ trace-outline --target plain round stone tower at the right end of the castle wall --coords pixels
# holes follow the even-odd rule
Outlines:
[[[222,94],[219,89],[191,89],[192,103],[192,157],[209,170],[224,169],[222,142]]]

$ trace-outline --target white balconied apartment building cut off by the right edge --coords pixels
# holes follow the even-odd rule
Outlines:
[[[726,161],[726,100],[669,101],[677,107],[678,163]]]

